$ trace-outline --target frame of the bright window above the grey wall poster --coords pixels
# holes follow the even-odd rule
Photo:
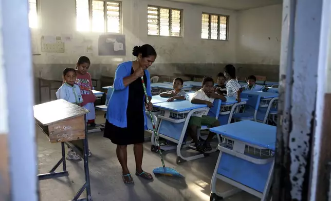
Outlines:
[[[38,1],[38,0],[37,0]],[[88,19],[89,19],[89,30],[88,32],[93,32],[93,33],[113,33],[113,34],[122,34],[123,33],[123,28],[122,28],[122,2],[120,1],[112,1],[112,0],[95,0],[95,1],[99,1],[99,2],[103,2],[103,17],[104,17],[104,32],[95,32],[93,31],[93,21],[92,21],[92,13],[93,13],[93,9],[92,9],[92,3],[93,0],[88,0]],[[107,7],[105,6],[106,2],[111,2],[111,3],[118,3],[119,4],[119,18],[120,18],[120,29],[119,32],[107,32]],[[77,23],[77,1],[75,0],[75,10],[76,10],[76,23]],[[77,24],[76,24],[77,26]],[[76,31],[77,27],[76,27]],[[85,31],[78,31],[78,32],[85,32]]]

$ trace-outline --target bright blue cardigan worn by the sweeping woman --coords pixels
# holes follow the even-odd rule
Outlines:
[[[120,128],[126,128],[126,108],[127,108],[127,100],[128,100],[128,86],[127,87],[124,86],[123,78],[131,75],[131,68],[132,68],[132,62],[124,62],[118,65],[115,72],[114,92],[108,102],[106,119],[108,120],[109,123]],[[146,80],[147,95],[152,97],[150,72],[148,70],[145,70],[145,74],[147,78]],[[141,101],[145,102],[145,96],[144,99],[142,99]],[[147,129],[145,104],[143,105],[144,107],[141,109],[144,111],[143,113],[145,118],[145,129]]]

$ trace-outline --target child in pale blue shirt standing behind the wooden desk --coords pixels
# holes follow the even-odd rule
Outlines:
[[[56,92],[58,99],[67,100],[69,103],[73,103],[76,105],[80,105],[83,103],[83,98],[81,94],[81,90],[78,85],[75,84],[76,82],[76,70],[73,68],[66,68],[63,71],[63,85],[58,89]],[[89,154],[90,155],[90,152]],[[77,155],[77,153],[69,148],[67,154],[68,160],[80,160],[81,157]]]

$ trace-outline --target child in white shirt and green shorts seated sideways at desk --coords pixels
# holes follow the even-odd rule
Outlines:
[[[214,81],[211,77],[205,77],[203,79],[203,88],[196,91],[192,97],[191,103],[194,104],[206,104],[208,107],[213,107],[214,99],[222,99],[226,101],[226,98],[223,95],[218,95],[214,92]],[[212,148],[210,146],[210,140],[212,139],[214,133],[209,133],[205,142],[200,142],[197,137],[197,129],[201,127],[201,125],[207,125],[208,127],[216,127],[219,126],[219,122],[216,118],[207,116],[209,112],[198,111],[192,114],[189,120],[189,128],[191,129],[191,137],[195,143],[196,150],[203,153],[205,151],[211,151]]]

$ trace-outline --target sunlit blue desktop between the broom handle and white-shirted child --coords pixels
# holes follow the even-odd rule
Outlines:
[[[154,104],[153,106],[164,109],[164,110],[171,110],[171,111],[175,111],[175,112],[183,112],[183,111],[189,111],[189,110],[207,107],[207,105],[205,105],[205,104],[192,104],[189,100],[162,102],[162,103]]]

